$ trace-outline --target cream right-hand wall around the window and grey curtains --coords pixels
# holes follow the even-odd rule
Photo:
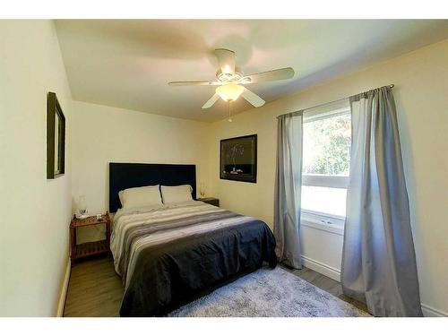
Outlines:
[[[423,47],[364,71],[323,83],[212,125],[211,194],[223,207],[254,215],[268,224],[273,218],[276,117],[302,108],[387,84],[395,84],[409,192],[411,221],[418,259],[420,294],[426,314],[448,314],[448,40]],[[298,73],[299,72],[299,69]],[[220,139],[258,134],[257,184],[220,180]],[[340,269],[340,236],[302,232],[308,259]],[[329,236],[330,235],[330,236]],[[331,238],[333,237],[333,238]],[[308,240],[309,239],[309,240]],[[334,248],[330,241],[334,242]],[[323,254],[323,252],[325,252]]]

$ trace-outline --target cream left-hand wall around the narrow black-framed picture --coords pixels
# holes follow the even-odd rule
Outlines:
[[[65,113],[65,176],[47,180],[47,91]],[[68,258],[72,97],[51,21],[0,21],[0,316],[56,314]]]

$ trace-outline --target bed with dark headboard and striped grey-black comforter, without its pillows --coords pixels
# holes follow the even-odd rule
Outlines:
[[[125,285],[121,316],[165,315],[263,264],[276,266],[275,239],[261,220],[195,200],[118,209],[120,190],[156,184],[195,189],[195,167],[109,164],[111,251]]]

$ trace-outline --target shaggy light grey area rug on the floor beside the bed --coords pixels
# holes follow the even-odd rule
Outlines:
[[[262,268],[182,306],[178,317],[370,316],[280,267]]]

